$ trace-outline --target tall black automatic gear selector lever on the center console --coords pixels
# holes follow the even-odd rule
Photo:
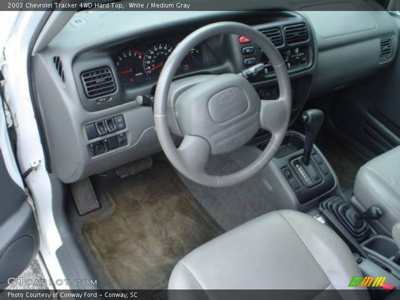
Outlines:
[[[309,164],[312,145],[323,122],[323,112],[319,109],[308,109],[301,114],[301,120],[305,129],[303,161]]]

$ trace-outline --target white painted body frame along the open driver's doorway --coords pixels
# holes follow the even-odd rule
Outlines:
[[[11,28],[4,57],[0,62],[4,76],[4,96],[12,114],[16,134],[18,136],[17,160],[21,170],[29,169],[31,163],[40,161],[38,167],[26,178],[29,191],[27,199],[32,199],[38,230],[40,235],[39,254],[41,255],[51,279],[62,282],[57,288],[69,289],[65,276],[56,257],[56,250],[61,245],[60,233],[55,225],[52,213],[52,193],[48,173],[44,164],[44,153],[32,106],[29,90],[28,59],[29,47],[35,36],[45,11],[20,12]],[[22,59],[21,59],[22,58]],[[6,167],[13,181],[24,189],[21,175],[8,140],[4,114],[1,113],[0,148],[4,155]],[[22,172],[23,172],[22,171]]]

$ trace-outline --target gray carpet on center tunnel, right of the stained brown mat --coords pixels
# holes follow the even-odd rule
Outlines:
[[[209,174],[222,175],[240,170],[243,166],[229,154],[218,155],[210,157],[206,171]],[[199,185],[180,174],[179,177],[196,200],[225,230],[276,209],[260,189],[259,175],[234,186],[217,188]]]

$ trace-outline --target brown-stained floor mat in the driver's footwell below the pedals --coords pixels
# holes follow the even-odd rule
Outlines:
[[[223,232],[166,163],[94,185],[110,205],[83,235],[115,288],[166,288],[181,257]]]

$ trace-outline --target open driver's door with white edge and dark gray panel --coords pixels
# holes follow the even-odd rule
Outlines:
[[[36,256],[39,242],[33,209],[20,186],[12,154],[0,93],[0,289]]]

